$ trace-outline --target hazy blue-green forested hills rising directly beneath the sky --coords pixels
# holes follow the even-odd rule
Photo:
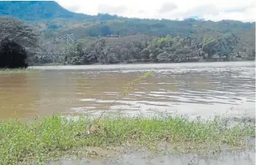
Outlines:
[[[0,1],[0,16],[10,16],[35,25],[46,39],[62,33],[73,33],[76,38],[107,35],[128,36],[147,34],[165,37],[198,37],[210,34],[219,37],[227,33],[255,31],[255,22],[222,20],[220,22],[185,19],[130,19],[99,13],[97,16],[73,13],[55,1]]]

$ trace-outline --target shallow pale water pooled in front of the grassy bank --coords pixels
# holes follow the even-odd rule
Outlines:
[[[106,161],[81,159],[61,159],[60,161],[49,161],[48,165],[75,165],[75,164],[97,164],[97,165],[254,165],[255,151],[223,152],[221,155],[152,155],[148,152],[127,152],[119,158],[111,158]]]

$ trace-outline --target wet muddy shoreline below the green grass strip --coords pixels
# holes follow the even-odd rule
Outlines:
[[[109,152],[109,150],[106,150]],[[101,152],[106,152],[102,150]],[[109,152],[112,153],[112,152]],[[120,153],[119,153],[120,154]],[[48,161],[46,165],[82,165],[82,164],[97,164],[97,165],[206,165],[206,164],[255,164],[255,149],[222,149],[221,152],[212,153],[182,153],[169,154],[165,152],[153,153],[143,149],[126,150],[123,154],[106,157],[78,157],[61,158],[58,161]]]

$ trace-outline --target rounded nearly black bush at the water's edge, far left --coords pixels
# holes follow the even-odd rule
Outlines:
[[[0,43],[0,68],[26,68],[27,52],[18,43],[4,38]]]

